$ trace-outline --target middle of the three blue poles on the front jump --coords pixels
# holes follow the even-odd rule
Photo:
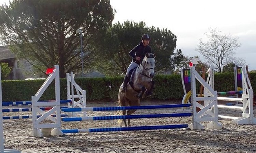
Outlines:
[[[182,117],[191,116],[192,113],[169,113],[169,114],[142,114],[142,115],[116,115],[116,116],[96,116],[96,117],[70,117],[61,118],[64,122],[85,121],[85,120],[117,120],[117,119],[136,119],[136,118],[158,118],[158,117]]]

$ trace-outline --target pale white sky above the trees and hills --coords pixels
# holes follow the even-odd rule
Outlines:
[[[0,0],[0,5],[4,2],[9,0]],[[144,21],[147,26],[167,28],[178,36],[176,49],[185,56],[200,56],[195,48],[210,27],[237,36],[241,47],[234,56],[256,70],[254,0],[110,0],[110,4],[116,10],[113,23]]]

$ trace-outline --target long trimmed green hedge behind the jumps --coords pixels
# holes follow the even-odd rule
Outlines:
[[[256,73],[250,73],[251,84],[256,95]],[[184,95],[180,75],[157,75],[155,81],[155,96],[152,99],[158,100],[180,100]],[[31,95],[35,95],[45,80],[18,80],[2,81],[3,101],[30,101]],[[123,77],[104,78],[77,78],[76,83],[86,90],[88,101],[116,101],[118,90]],[[197,82],[197,93],[200,92],[200,85]],[[67,99],[66,79],[60,79],[61,99]],[[214,89],[218,92],[234,90],[234,73],[222,73],[214,75]],[[55,99],[55,87],[52,82],[44,92],[40,100]]]

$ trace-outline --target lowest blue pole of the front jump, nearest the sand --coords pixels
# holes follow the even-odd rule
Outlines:
[[[63,133],[114,132],[114,131],[180,129],[180,128],[187,128],[187,127],[188,127],[188,124],[177,124],[177,125],[133,126],[133,127],[116,127],[116,128],[65,129],[65,130],[62,130],[62,132]]]

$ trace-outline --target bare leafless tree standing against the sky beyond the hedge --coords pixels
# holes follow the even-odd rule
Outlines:
[[[238,38],[230,36],[230,34],[221,34],[216,28],[209,28],[209,33],[205,33],[208,38],[207,42],[199,39],[199,45],[196,48],[203,55],[209,65],[214,65],[216,71],[221,73],[225,65],[232,63],[235,50],[240,47]]]

